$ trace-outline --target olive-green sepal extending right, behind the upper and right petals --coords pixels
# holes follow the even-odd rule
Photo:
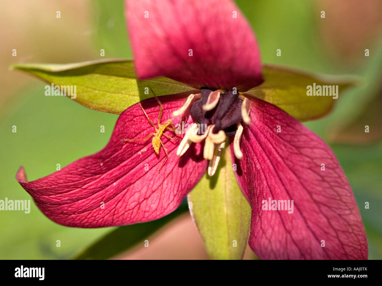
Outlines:
[[[244,92],[272,103],[286,111],[297,120],[306,121],[319,118],[327,114],[336,99],[332,96],[308,96],[307,86],[338,85],[341,95],[346,87],[354,83],[355,79],[344,77],[314,77],[300,71],[265,65],[263,66],[264,82],[253,89]]]

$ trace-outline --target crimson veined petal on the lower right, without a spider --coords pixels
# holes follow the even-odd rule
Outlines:
[[[280,108],[259,99],[251,106],[235,162],[252,205],[252,250],[261,259],[367,259],[356,200],[330,147]],[[293,213],[263,210],[269,198],[293,200]]]

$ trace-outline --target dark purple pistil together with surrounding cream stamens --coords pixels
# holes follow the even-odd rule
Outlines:
[[[220,161],[227,136],[235,136],[233,149],[238,159],[243,157],[240,150],[240,139],[243,132],[241,121],[249,124],[250,104],[243,95],[238,95],[236,90],[210,90],[201,89],[200,94],[189,95],[181,108],[172,113],[172,117],[181,115],[190,105],[193,98],[199,100],[193,103],[190,109],[191,116],[198,123],[186,132],[179,144],[177,155],[183,155],[194,142],[204,142],[203,157],[210,160],[208,174],[214,175]],[[201,125],[207,126],[201,135]],[[198,127],[199,125],[199,127]],[[199,133],[199,134],[198,134]]]

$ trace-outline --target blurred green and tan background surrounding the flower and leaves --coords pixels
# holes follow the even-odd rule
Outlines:
[[[306,125],[337,155],[361,211],[369,259],[381,259],[382,2],[236,3],[254,28],[264,63],[364,77],[364,84],[338,99],[330,116]],[[31,199],[15,180],[19,166],[34,180],[56,171],[57,163],[63,167],[97,152],[107,143],[118,116],[87,109],[65,97],[45,97],[45,83],[9,71],[8,66],[95,60],[102,58],[100,49],[105,50],[105,58],[131,58],[132,54],[122,0],[2,1],[0,11],[0,23],[6,27],[0,31],[0,199]],[[56,18],[56,11],[61,18]],[[325,11],[324,19],[321,11]],[[364,55],[366,48],[369,57]],[[276,56],[277,49],[281,57]],[[100,125],[105,133],[99,131]],[[364,125],[373,126],[369,134],[364,133]],[[365,202],[370,203],[369,209],[364,208]],[[115,229],[60,226],[33,202],[29,214],[1,211],[0,226],[0,259],[68,259]],[[61,247],[56,247],[57,240]]]

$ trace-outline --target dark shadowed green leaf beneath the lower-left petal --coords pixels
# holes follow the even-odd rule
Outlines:
[[[187,205],[181,204],[174,212],[159,220],[120,226],[92,246],[81,251],[74,259],[109,259],[130,249],[139,242],[143,243],[144,239],[152,233],[185,212],[187,212]]]

